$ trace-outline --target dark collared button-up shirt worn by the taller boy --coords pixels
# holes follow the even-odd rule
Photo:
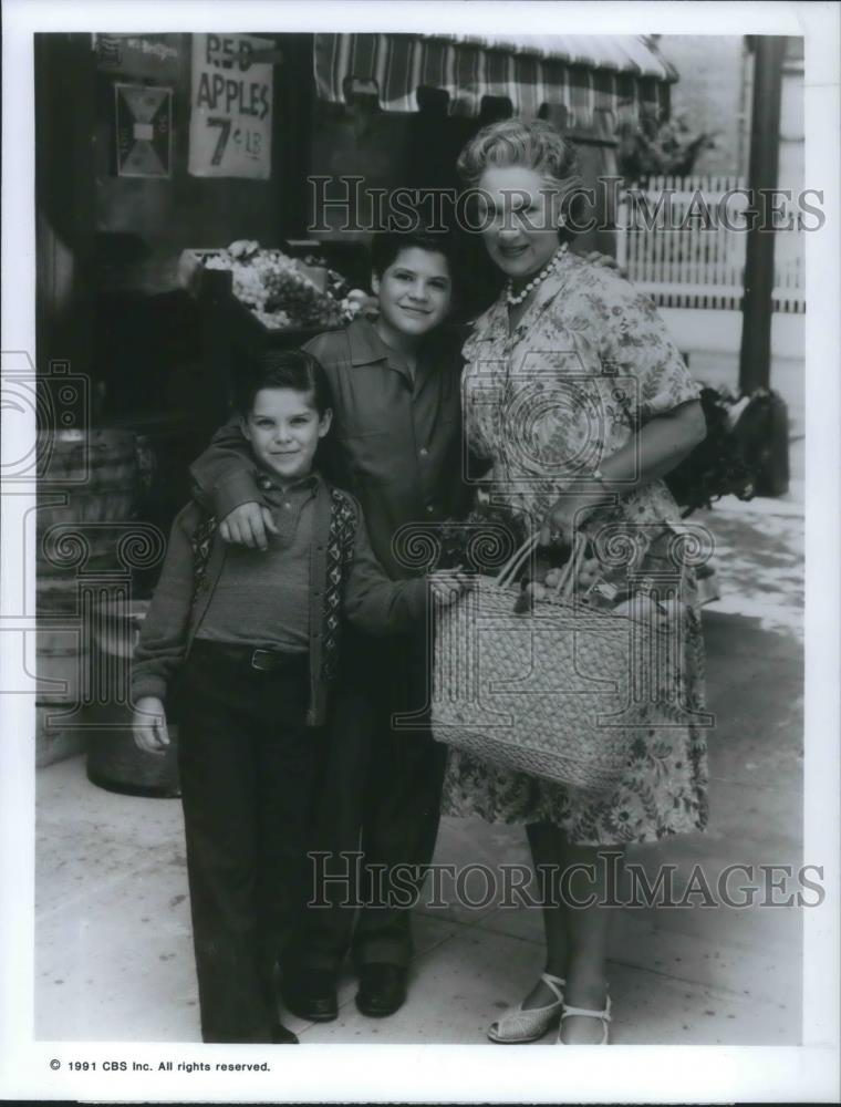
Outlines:
[[[364,319],[312,339],[304,349],[324,366],[333,427],[320,449],[322,472],[360,500],[371,545],[392,579],[416,570],[396,548],[401,528],[435,526],[464,514],[460,351],[438,332],[420,348],[415,374]],[[197,494],[225,518],[262,501],[238,422],[214,436],[194,463]]]

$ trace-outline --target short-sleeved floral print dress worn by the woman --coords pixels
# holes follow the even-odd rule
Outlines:
[[[523,537],[540,528],[564,488],[592,474],[642,423],[699,395],[651,299],[569,252],[512,331],[500,297],[475,324],[464,353],[466,435],[471,452],[491,466],[484,495]],[[640,580],[667,560],[683,525],[665,484],[653,480],[600,508],[585,530],[610,534],[614,551],[630,550],[623,571],[633,569]],[[450,749],[445,815],[551,823],[569,841],[590,846],[704,828],[708,716],[691,561],[681,560],[677,593],[679,686],[663,693],[678,705],[675,721],[647,727],[641,707],[619,785],[609,794],[582,793]]]

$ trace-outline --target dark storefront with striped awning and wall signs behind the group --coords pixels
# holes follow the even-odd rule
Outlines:
[[[319,250],[345,289],[365,286],[377,220],[320,207],[313,179],[340,198],[338,178],[371,194],[457,188],[467,138],[517,115],[569,134],[594,183],[615,172],[619,124],[667,112],[675,79],[641,38],[37,35],[39,371],[61,360],[87,377],[82,431],[143,436],[134,513],[166,529],[238,355],[230,296],[218,282],[189,294],[185,251]]]

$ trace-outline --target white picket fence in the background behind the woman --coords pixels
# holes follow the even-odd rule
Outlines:
[[[744,187],[740,177],[664,176],[622,193],[617,260],[634,284],[661,307],[739,309],[747,232],[733,228],[748,207],[748,197],[736,192]],[[796,210],[777,221],[793,226],[769,231],[775,235],[775,311],[803,312],[803,231]]]

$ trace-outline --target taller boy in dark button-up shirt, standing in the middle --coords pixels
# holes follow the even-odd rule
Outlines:
[[[443,325],[453,306],[451,244],[443,235],[377,235],[372,273],[376,321],[356,318],[305,349],[324,365],[333,396],[325,472],[359,499],[388,576],[406,581],[417,575],[401,556],[407,528],[434,535],[467,508],[460,341]],[[248,443],[228,423],[191,473],[222,538],[259,549],[272,523],[251,469]],[[303,1018],[336,1017],[336,979],[347,952],[363,1014],[390,1015],[405,999],[409,909],[405,896],[390,894],[391,873],[402,871],[405,879],[407,868],[416,872],[419,892],[435,847],[446,757],[423,722],[411,731],[392,726],[394,715],[426,703],[424,630],[418,627],[399,651],[354,634],[344,654],[342,707],[331,724],[318,820],[318,845],[328,855],[318,899],[334,902],[308,913],[281,984],[285,1006]],[[360,850],[357,870],[352,857]],[[382,896],[370,894],[368,872],[383,873]],[[355,902],[364,904],[359,912]]]

